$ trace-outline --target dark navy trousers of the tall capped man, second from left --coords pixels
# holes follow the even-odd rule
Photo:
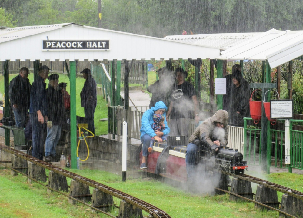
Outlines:
[[[32,124],[32,156],[43,160],[44,143],[46,138],[46,124],[38,122],[38,115],[29,114]]]

